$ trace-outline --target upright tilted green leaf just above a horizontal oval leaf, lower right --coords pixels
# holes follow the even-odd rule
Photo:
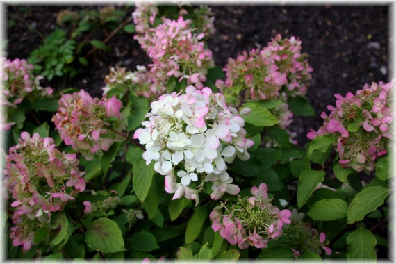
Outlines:
[[[299,176],[297,188],[297,205],[299,208],[304,206],[316,186],[324,180],[324,174],[322,170],[306,170]]]

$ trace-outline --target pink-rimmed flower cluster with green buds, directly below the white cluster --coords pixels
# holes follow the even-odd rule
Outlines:
[[[292,215],[289,210],[280,211],[271,204],[265,183],[258,188],[253,186],[250,191],[252,197],[238,197],[229,208],[222,203],[209,215],[213,231],[220,231],[222,238],[240,249],[267,247],[269,240],[282,235],[283,224],[290,224]]]

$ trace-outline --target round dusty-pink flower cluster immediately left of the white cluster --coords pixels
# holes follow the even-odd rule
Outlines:
[[[121,101],[114,96],[98,99],[84,90],[65,94],[59,100],[58,113],[52,121],[66,145],[72,145],[87,160],[95,154],[101,156],[110,145],[124,140],[120,131],[124,129],[120,108]]]

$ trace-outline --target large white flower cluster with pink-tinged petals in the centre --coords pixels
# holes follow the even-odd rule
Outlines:
[[[243,109],[240,115],[246,115]],[[226,172],[226,163],[238,156],[250,158],[247,149],[253,141],[245,138],[245,121],[235,108],[227,107],[224,95],[210,88],[197,90],[188,86],[181,92],[163,94],[151,103],[149,121],[142,122],[133,138],[146,145],[143,158],[147,165],[154,160],[154,170],[165,175],[165,190],[198,203],[198,193],[211,182],[212,199],[224,192],[236,195],[237,185]],[[176,175],[180,179],[177,181]]]

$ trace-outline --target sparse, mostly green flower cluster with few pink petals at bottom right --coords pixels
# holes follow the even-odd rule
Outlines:
[[[282,241],[292,248],[295,258],[307,253],[320,255],[322,250],[330,256],[331,249],[327,247],[329,241],[326,240],[326,234],[318,233],[310,223],[302,222],[303,218],[304,213],[292,210],[291,222],[283,228]]]

